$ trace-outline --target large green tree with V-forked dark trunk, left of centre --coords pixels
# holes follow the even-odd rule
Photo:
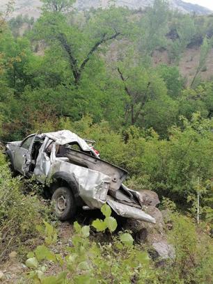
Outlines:
[[[59,45],[61,52],[69,62],[74,84],[79,85],[86,65],[100,47],[116,40],[125,29],[126,9],[109,8],[107,15],[102,9],[93,15],[84,17],[84,23],[74,22],[75,14],[68,21],[62,13],[45,12],[38,20],[34,32],[39,39],[48,40],[51,45]],[[71,24],[71,26],[70,26]],[[43,27],[47,29],[43,29]],[[90,32],[90,33],[88,33]],[[34,35],[35,35],[34,33]]]

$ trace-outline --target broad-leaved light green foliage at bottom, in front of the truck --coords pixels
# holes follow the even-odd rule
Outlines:
[[[116,229],[115,219],[111,217],[108,205],[102,207],[105,226],[101,228],[100,220],[93,221],[93,226],[103,232],[106,228],[112,232]],[[45,223],[47,235],[52,235],[54,228]],[[112,230],[113,228],[113,230]],[[89,239],[90,226],[74,223],[72,246],[65,248],[67,255],[54,253],[51,246],[38,246],[28,254],[26,266],[33,283],[129,283],[133,278],[142,280],[141,271],[145,269],[147,278],[153,274],[149,269],[149,258],[145,251],[133,246],[133,238],[128,232],[120,232],[112,237],[109,244],[97,244]],[[47,239],[47,238],[46,238]],[[47,244],[47,242],[46,242]],[[47,244],[48,245],[48,244]],[[62,271],[56,276],[47,276],[47,262],[59,265]]]

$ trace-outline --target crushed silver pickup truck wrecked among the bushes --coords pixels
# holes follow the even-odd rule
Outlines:
[[[60,220],[74,216],[77,207],[101,208],[107,203],[116,214],[155,223],[143,212],[138,192],[125,187],[127,171],[100,159],[86,140],[68,130],[31,134],[23,141],[6,144],[13,171],[32,175],[47,184]]]

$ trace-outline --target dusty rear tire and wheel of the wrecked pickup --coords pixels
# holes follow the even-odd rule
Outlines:
[[[69,187],[58,187],[52,195],[52,202],[59,220],[66,221],[74,217],[77,205]]]

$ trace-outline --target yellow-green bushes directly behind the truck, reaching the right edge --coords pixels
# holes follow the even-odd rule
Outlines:
[[[188,206],[187,197],[196,194],[195,180],[205,184],[213,176],[212,122],[200,113],[191,120],[182,117],[180,127],[169,130],[168,139],[137,127],[114,132],[107,122],[93,124],[88,117],[75,123],[61,120],[60,128],[97,141],[95,148],[102,159],[129,171],[127,185],[132,189],[152,189],[181,205]]]

